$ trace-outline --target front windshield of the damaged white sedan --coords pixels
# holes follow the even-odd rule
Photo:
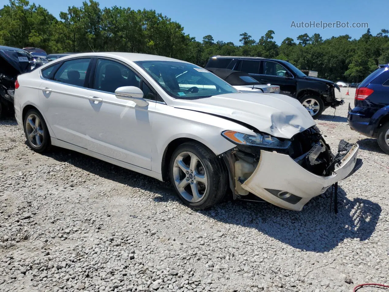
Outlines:
[[[224,93],[237,93],[235,88],[213,73],[196,65],[172,61],[137,61],[171,97],[198,99]]]

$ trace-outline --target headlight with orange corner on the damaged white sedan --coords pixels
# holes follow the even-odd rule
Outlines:
[[[261,146],[266,148],[286,149],[290,146],[291,141],[280,141],[276,137],[266,134],[248,135],[235,131],[224,131],[221,135],[235,144]]]

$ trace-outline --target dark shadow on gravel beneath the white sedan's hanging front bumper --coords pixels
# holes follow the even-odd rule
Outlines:
[[[345,238],[368,239],[381,207],[366,199],[350,200],[338,188],[338,214],[330,211],[331,190],[312,199],[303,211],[288,211],[269,203],[223,203],[206,216],[224,223],[255,228],[287,245],[311,252],[328,252]]]

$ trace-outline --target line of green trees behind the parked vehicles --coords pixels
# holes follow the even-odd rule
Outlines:
[[[186,60],[204,67],[210,56],[259,56],[287,60],[299,69],[315,70],[333,81],[359,82],[378,64],[389,62],[389,31],[359,39],[341,35],[323,40],[319,33],[287,37],[278,45],[268,30],[258,41],[247,32],[240,45],[206,35],[202,41],[154,10],[101,8],[94,0],[68,7],[55,18],[40,5],[10,0],[0,9],[0,44],[39,47],[47,53],[122,51],[147,53]]]

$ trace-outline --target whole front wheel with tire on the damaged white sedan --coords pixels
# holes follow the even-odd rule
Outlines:
[[[169,171],[179,198],[193,209],[209,208],[226,194],[226,167],[199,143],[186,142],[178,146],[170,160]]]

